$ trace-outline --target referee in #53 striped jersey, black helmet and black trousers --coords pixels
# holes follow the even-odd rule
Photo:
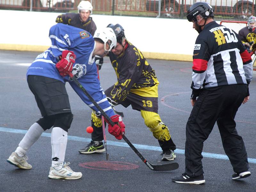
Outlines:
[[[173,182],[202,184],[203,143],[217,121],[225,153],[234,170],[232,179],[251,175],[244,141],[237,134],[235,116],[249,100],[252,60],[239,36],[213,20],[210,4],[197,2],[188,9],[188,21],[199,33],[193,54],[193,109],[186,125],[185,173]],[[196,99],[197,98],[197,99]]]

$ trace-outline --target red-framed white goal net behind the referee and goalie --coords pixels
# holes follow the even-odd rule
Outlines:
[[[231,28],[233,31],[235,31],[237,34],[241,28],[244,28],[247,26],[246,21],[228,21],[228,20],[222,20],[220,21],[220,25],[224,25],[227,28]],[[253,70],[256,71],[256,56],[255,54],[252,54],[252,63],[253,63]]]

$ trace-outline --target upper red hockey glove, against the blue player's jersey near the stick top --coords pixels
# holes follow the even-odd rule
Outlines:
[[[56,63],[56,68],[58,69],[61,76],[68,75],[72,71],[73,63],[76,62],[76,55],[73,51],[65,50],[62,52],[62,59]]]

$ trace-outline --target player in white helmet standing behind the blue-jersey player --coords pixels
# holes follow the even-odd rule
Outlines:
[[[92,4],[89,1],[81,1],[77,6],[78,13],[66,13],[58,15],[56,18],[56,23],[64,23],[84,29],[93,36],[97,27],[92,20],[92,17],[90,17],[92,9]]]

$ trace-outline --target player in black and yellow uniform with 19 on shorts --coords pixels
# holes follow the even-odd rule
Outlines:
[[[126,40],[124,28],[109,24],[116,34],[116,48],[108,53],[111,64],[116,71],[117,82],[109,87],[105,94],[111,105],[121,104],[125,108],[140,111],[144,123],[158,140],[163,150],[162,160],[172,161],[176,158],[175,144],[168,127],[158,115],[158,80],[154,69],[133,44]],[[80,153],[90,154],[104,152],[102,121],[97,113],[92,113],[92,141]],[[119,138],[119,139],[122,139]]]

